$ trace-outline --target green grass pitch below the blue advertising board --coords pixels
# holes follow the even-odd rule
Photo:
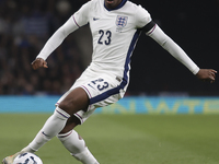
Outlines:
[[[0,157],[32,141],[48,114],[1,114]],[[219,115],[93,115],[77,131],[101,164],[218,164]],[[44,164],[79,164],[57,138]]]

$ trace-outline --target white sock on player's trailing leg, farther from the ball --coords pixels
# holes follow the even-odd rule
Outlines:
[[[58,134],[57,137],[66,147],[66,149],[71,153],[71,155],[81,161],[83,164],[99,164],[96,159],[85,147],[84,140],[80,138],[78,132],[74,130],[64,134]]]

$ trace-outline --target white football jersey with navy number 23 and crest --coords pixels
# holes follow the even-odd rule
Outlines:
[[[89,23],[93,37],[91,68],[118,75],[126,87],[129,82],[130,57],[140,30],[151,16],[147,10],[123,0],[114,10],[107,10],[104,0],[91,0],[72,15],[81,27]]]

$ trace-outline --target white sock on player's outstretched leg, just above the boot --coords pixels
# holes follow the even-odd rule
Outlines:
[[[23,150],[30,152],[37,151],[64,129],[69,117],[69,114],[57,107],[54,114],[47,119],[44,127],[36,134],[35,139]]]

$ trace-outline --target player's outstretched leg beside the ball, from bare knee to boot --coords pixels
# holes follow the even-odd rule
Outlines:
[[[81,87],[71,91],[69,95],[67,95],[67,97],[55,109],[54,114],[47,119],[44,127],[39,130],[34,140],[21,152],[18,152],[11,156],[7,156],[2,163],[12,164],[13,160],[19,154],[23,152],[36,152],[41,147],[43,147],[47,141],[57,136],[64,129],[70,116],[80,109],[87,109],[88,105],[88,95]]]

